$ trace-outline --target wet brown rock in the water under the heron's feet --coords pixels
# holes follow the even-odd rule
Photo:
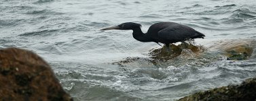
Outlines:
[[[152,63],[153,65],[157,65],[159,62],[169,61],[171,59],[175,59],[179,56],[188,56],[190,57],[193,55],[193,57],[197,57],[198,55],[201,55],[206,50],[205,47],[200,45],[195,45],[193,43],[181,43],[181,44],[170,44],[170,50],[167,49],[166,46],[163,46],[162,48],[156,48],[150,50],[148,56],[149,58],[144,57],[127,57],[126,59],[122,61],[117,61],[114,63],[111,63],[113,65],[120,65],[124,67],[125,64],[132,63],[134,61],[148,61],[149,63]]]

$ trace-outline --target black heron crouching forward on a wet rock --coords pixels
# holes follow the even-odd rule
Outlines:
[[[184,42],[185,40],[194,38],[204,38],[204,34],[175,22],[159,22],[153,24],[145,34],[141,31],[141,24],[133,22],[126,22],[102,30],[133,30],[132,36],[136,40],[141,42],[161,42],[167,46],[168,50],[170,43]]]

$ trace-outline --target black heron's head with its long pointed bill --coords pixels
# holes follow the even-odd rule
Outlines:
[[[109,27],[109,28],[104,28],[101,30],[133,30],[136,28],[141,28],[141,24],[136,24],[133,22],[126,22],[123,24],[120,24],[118,26],[113,26],[113,27]]]

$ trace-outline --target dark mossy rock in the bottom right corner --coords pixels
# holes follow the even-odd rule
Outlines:
[[[256,78],[246,79],[237,86],[225,86],[205,92],[198,92],[191,96],[181,98],[179,101],[195,100],[230,100],[230,101],[255,101],[256,100]]]

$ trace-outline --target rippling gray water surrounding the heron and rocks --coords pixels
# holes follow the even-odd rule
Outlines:
[[[184,50],[151,62],[161,48],[139,42],[131,30],[101,31],[123,22],[177,22],[219,40],[256,38],[255,0],[1,0],[0,48],[33,50],[54,69],[75,100],[177,100],[256,76],[256,59],[227,61],[211,51]],[[119,61],[130,62],[118,64]]]

